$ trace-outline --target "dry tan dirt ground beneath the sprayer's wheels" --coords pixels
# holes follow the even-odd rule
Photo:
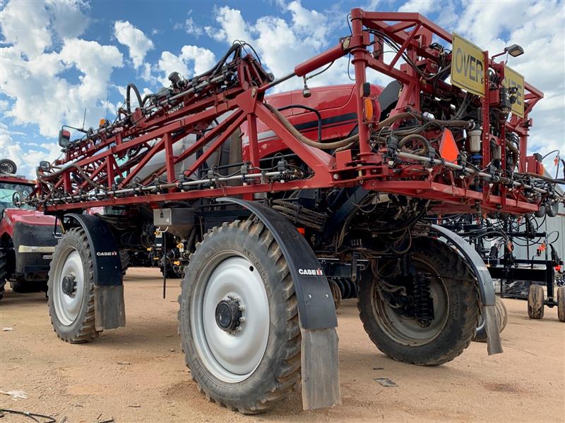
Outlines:
[[[354,300],[338,310],[343,405],[302,411],[299,392],[274,410],[246,417],[208,403],[184,367],[177,335],[178,281],[161,298],[155,269],[125,278],[127,327],[93,343],[55,336],[44,294],[7,290],[0,302],[0,407],[52,415],[57,422],[564,422],[565,325],[557,309],[528,319],[525,301],[504,300],[504,354],[472,343],[440,367],[415,367],[379,353]],[[392,379],[383,387],[374,379]],[[31,422],[6,415],[1,423]]]

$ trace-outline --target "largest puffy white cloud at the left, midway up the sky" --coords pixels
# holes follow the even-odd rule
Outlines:
[[[84,109],[87,123],[105,116],[109,78],[122,56],[114,46],[102,46],[83,39],[66,39],[60,52],[24,59],[16,47],[0,49],[2,92],[13,99],[3,118],[14,123],[39,125],[41,135],[55,137],[61,123],[81,125]],[[79,82],[71,84],[59,74],[74,68]]]

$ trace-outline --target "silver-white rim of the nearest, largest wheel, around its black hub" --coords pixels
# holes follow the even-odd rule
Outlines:
[[[237,331],[216,322],[216,307],[227,298],[243,306]],[[263,279],[249,259],[238,252],[210,259],[195,283],[190,316],[197,353],[214,376],[237,383],[253,374],[267,348],[270,316]]]

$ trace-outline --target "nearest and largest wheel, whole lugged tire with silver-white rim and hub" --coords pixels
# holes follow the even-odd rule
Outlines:
[[[186,365],[208,400],[255,414],[297,386],[295,288],[263,223],[234,221],[208,232],[191,255],[179,303]]]

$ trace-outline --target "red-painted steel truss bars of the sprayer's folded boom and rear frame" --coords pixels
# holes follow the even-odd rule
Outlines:
[[[157,204],[158,202],[172,200],[189,200],[201,197],[223,197],[246,195],[252,197],[258,192],[275,192],[297,190],[302,188],[331,188],[334,186],[362,185],[369,190],[379,192],[393,192],[412,197],[427,198],[442,203],[443,212],[460,212],[471,210],[481,203],[484,210],[498,210],[511,213],[534,212],[542,201],[542,196],[528,199],[523,187],[507,189],[501,186],[499,195],[494,195],[489,184],[484,184],[482,192],[470,188],[471,181],[477,176],[466,175],[464,178],[454,176],[453,171],[445,166],[434,166],[434,171],[427,171],[423,165],[409,163],[400,164],[402,169],[393,171],[386,164],[383,153],[371,149],[369,138],[371,128],[375,121],[364,118],[363,85],[366,82],[367,68],[372,68],[392,78],[396,78],[403,89],[400,99],[391,115],[406,111],[408,107],[420,110],[420,93],[432,94],[437,90],[459,93],[457,87],[452,87],[441,80],[432,86],[420,78],[410,66],[403,64],[400,69],[395,68],[402,54],[418,63],[424,68],[436,67],[438,52],[429,47],[432,37],[436,36],[451,42],[451,34],[441,29],[418,13],[382,13],[367,12],[359,8],[351,11],[352,34],[340,40],[335,47],[324,51],[308,61],[295,67],[295,75],[303,76],[317,68],[326,66],[335,59],[351,54],[352,64],[355,68],[355,95],[357,97],[357,123],[359,127],[359,155],[352,157],[351,150],[338,152],[332,156],[321,149],[305,145],[288,130],[285,125],[273,114],[264,102],[264,95],[268,88],[273,86],[268,75],[251,56],[245,56],[237,61],[237,85],[220,92],[214,90],[213,84],[206,92],[201,92],[198,97],[186,94],[180,106],[167,108],[162,106],[160,111],[152,116],[143,116],[141,111],[133,112],[133,124],[114,128],[109,133],[104,133],[96,140],[87,139],[80,142],[80,147],[74,147],[66,152],[65,159],[57,161],[56,165],[62,166],[61,170],[54,173],[44,173],[38,182],[37,190],[47,196],[47,201],[42,207],[49,213],[57,213],[70,209],[86,209],[118,204]],[[398,43],[400,51],[388,63],[379,55],[381,41],[376,36],[367,32],[378,30]],[[383,51],[381,48],[380,51]],[[488,51],[484,58],[491,68],[504,73],[504,64],[495,63],[489,59]],[[489,128],[489,106],[499,102],[498,91],[489,89],[488,68],[484,69],[485,91],[487,96],[482,99],[483,128]],[[504,74],[502,75],[504,77]],[[251,80],[261,81],[253,84]],[[525,172],[525,155],[527,151],[528,130],[532,120],[528,113],[533,106],[543,97],[542,92],[535,87],[525,85],[525,117],[513,116],[506,123],[504,130],[515,132],[520,137],[520,158],[518,171]],[[231,111],[212,130],[204,132],[216,118]],[[249,161],[251,166],[258,167],[258,137],[256,120],[259,119],[266,127],[280,137],[280,140],[290,151],[304,161],[314,172],[313,176],[302,180],[269,181],[264,178],[249,180],[242,185],[227,186],[216,185],[206,190],[187,190],[180,185],[180,180],[174,174],[174,165],[187,157],[196,154],[201,147],[207,146],[201,156],[196,158],[194,164],[185,171],[189,176],[194,173],[213,152],[217,151],[242,123],[247,124],[249,137]],[[396,123],[398,125],[398,123]],[[173,154],[173,145],[189,133],[200,135],[198,141],[186,149],[182,154]],[[483,131],[483,163],[489,162],[489,140],[492,134]],[[496,137],[496,142],[504,142],[504,133]],[[150,146],[153,142],[153,146]],[[147,151],[138,156],[124,159],[128,150],[145,147]],[[165,151],[165,166],[162,166],[149,178],[138,180],[140,171],[155,154]],[[504,148],[502,149],[504,152]],[[196,155],[194,156],[196,157]],[[504,169],[506,161],[502,159]],[[445,175],[451,175],[451,183],[446,183]],[[443,177],[441,177],[443,175]],[[41,175],[40,175],[41,176]],[[141,185],[151,183],[155,178],[166,178],[167,183],[160,182],[163,187],[158,192],[136,192],[131,195],[107,195],[100,200],[90,200],[85,192],[93,191],[93,184],[105,190],[120,190],[137,182]],[[76,180],[82,182],[77,183]],[[119,183],[116,181],[119,180]],[[162,179],[161,179],[162,180]],[[139,185],[139,186],[141,186]],[[50,192],[64,188],[70,201],[60,202],[49,197]],[[86,200],[85,200],[86,199]]]

